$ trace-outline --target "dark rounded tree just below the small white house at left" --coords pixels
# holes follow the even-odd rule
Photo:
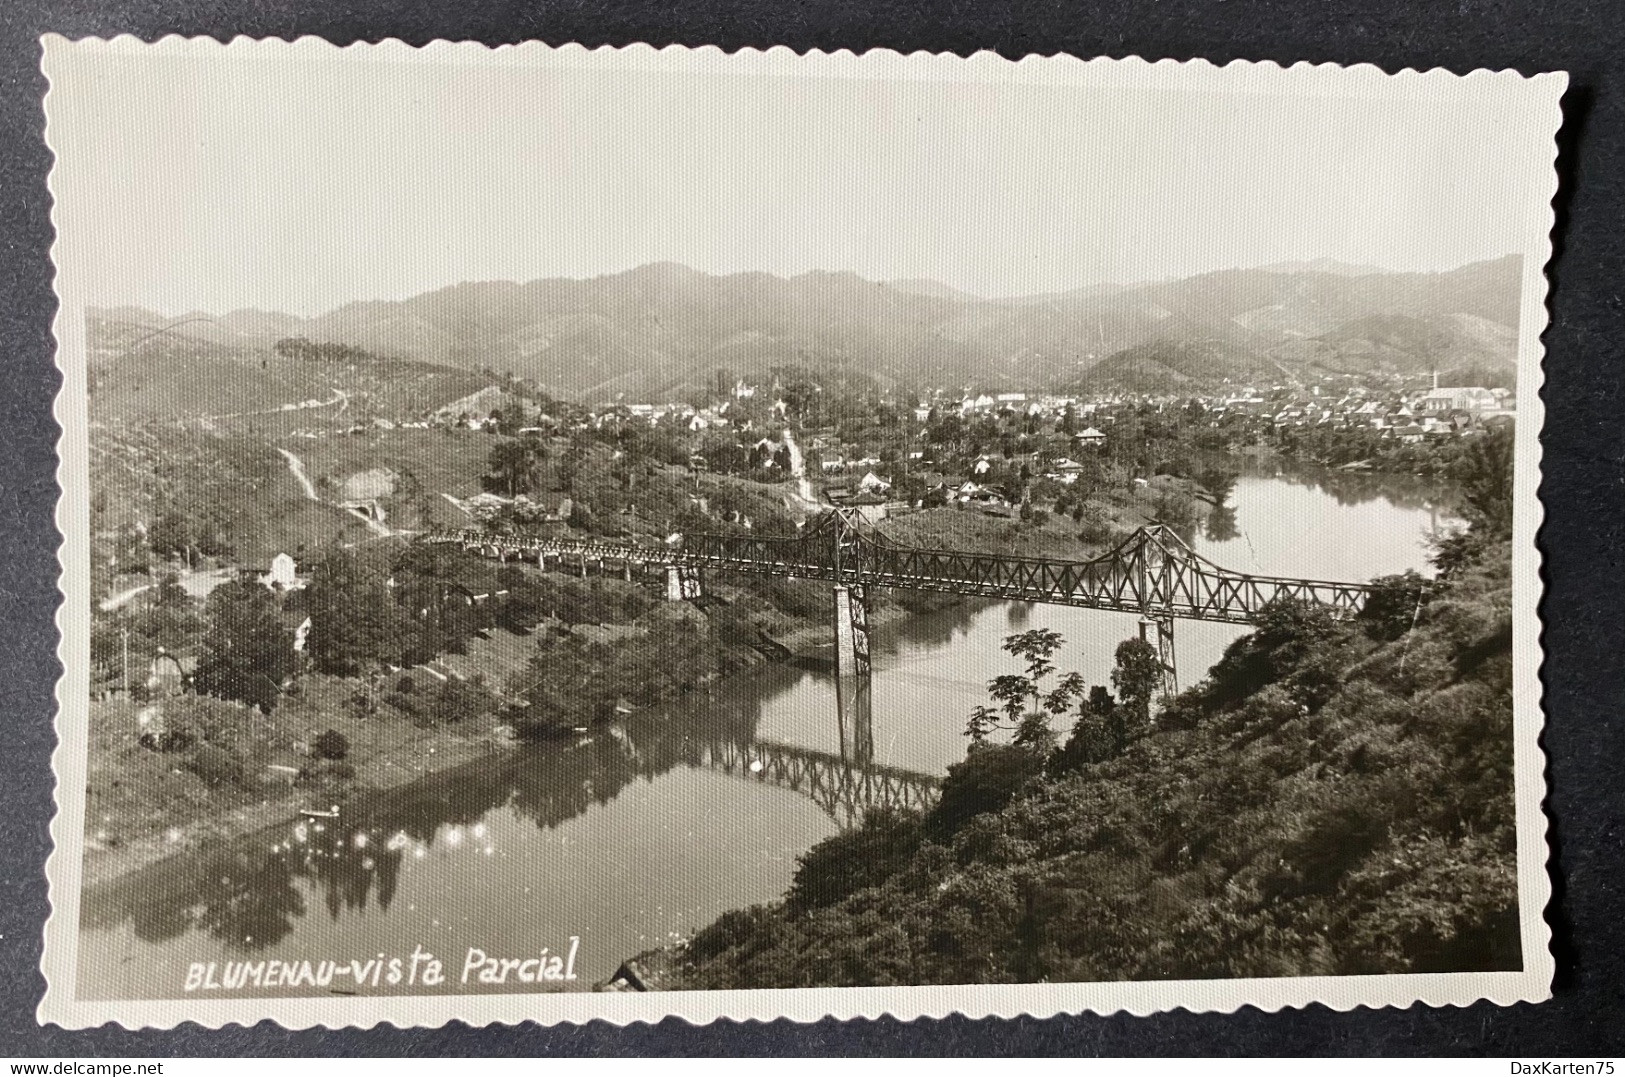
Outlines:
[[[258,583],[236,580],[214,588],[205,614],[210,630],[193,676],[197,690],[271,713],[283,682],[299,668],[294,634],[276,599]]]

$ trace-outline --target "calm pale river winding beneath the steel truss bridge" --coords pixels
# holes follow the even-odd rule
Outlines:
[[[1233,518],[1198,534],[1194,547],[1269,575],[1427,572],[1427,538],[1451,523],[1436,504],[1433,491],[1402,479],[1246,474],[1230,499]],[[574,958],[575,981],[548,986],[588,988],[640,950],[780,897],[796,856],[864,806],[915,802],[930,776],[964,757],[965,716],[986,702],[988,679],[1017,671],[999,642],[1030,627],[1058,630],[1058,668],[1097,684],[1138,630],[1128,614],[1014,603],[887,627],[874,648],[866,767],[842,759],[856,737],[837,721],[830,673],[772,664],[569,746],[500,752],[356,798],[340,820],[176,856],[84,893],[78,993],[184,997],[193,963],[214,962],[224,975],[228,962],[309,960],[322,971],[332,960],[364,973],[379,955],[419,949],[444,962],[445,984],[374,986],[364,976],[358,986],[340,973],[318,989],[538,989],[512,978],[462,983],[471,947]],[[1242,632],[1176,622],[1185,682]]]

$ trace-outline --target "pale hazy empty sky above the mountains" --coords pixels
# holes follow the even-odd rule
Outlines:
[[[760,75],[52,62],[91,304],[318,314],[476,279],[852,270],[982,296],[1519,250],[1492,101]]]

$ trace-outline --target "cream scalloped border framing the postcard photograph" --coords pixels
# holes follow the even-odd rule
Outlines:
[[[1544,518],[1539,500],[1540,443],[1544,426],[1542,357],[1544,333],[1549,327],[1547,265],[1552,260],[1552,200],[1558,190],[1557,133],[1562,125],[1560,99],[1568,84],[1563,71],[1523,75],[1516,70],[1477,68],[1458,75],[1446,68],[1425,71],[1404,68],[1386,71],[1373,63],[1308,63],[1280,65],[1272,60],[1232,60],[1216,65],[1202,58],[1144,60],[1129,57],[1079,58],[1068,54],[1029,54],[1009,60],[994,52],[960,57],[952,52],[900,54],[890,49],[809,50],[798,54],[775,45],[765,50],[739,49],[725,52],[715,45],[686,47],[632,44],[624,47],[578,44],[549,45],[540,41],[486,45],[473,41],[434,41],[410,45],[400,39],[335,45],[322,37],[180,37],[176,34],[153,42],[124,34],[115,37],[68,39],[46,34],[42,39],[42,71],[47,80],[44,101],[46,141],[54,153],[50,174],[52,245],[58,310],[54,320],[57,367],[62,372],[54,416],[62,429],[58,439],[57,481],[60,497],[55,512],[62,536],[58,549],[58,590],[63,603],[57,612],[62,637],[58,658],[62,677],[57,682],[57,749],[52,755],[55,815],[50,822],[52,851],[46,863],[50,915],[44,924],[41,971],[46,993],[36,1017],[41,1023],[63,1028],[117,1025],[128,1030],[174,1028],[197,1023],[205,1028],[255,1025],[271,1020],[284,1028],[372,1028],[440,1027],[448,1022],[468,1025],[517,1025],[536,1022],[613,1025],[658,1022],[678,1017],[692,1023],[715,1020],[816,1022],[832,1019],[912,1020],[964,1015],[983,1017],[1055,1017],[1061,1014],[1134,1014],[1168,1010],[1235,1012],[1256,1007],[1264,1012],[1326,1006],[1334,1010],[1355,1007],[1472,1006],[1488,1001],[1497,1006],[1539,1002],[1550,997],[1554,976],[1552,931],[1545,910],[1552,900],[1549,876],[1549,820],[1544,812],[1547,796],[1542,733],[1542,643],[1539,603],[1542,598],[1540,552],[1536,534]],[[575,68],[640,70],[663,73],[730,73],[796,78],[847,80],[915,80],[915,81],[986,81],[990,84],[1076,84],[1110,88],[1165,88],[1183,91],[1216,91],[1232,94],[1294,93],[1337,97],[1422,97],[1450,101],[1464,94],[1500,94],[1516,106],[1518,119],[1529,127],[1529,138],[1539,136],[1550,148],[1544,159],[1544,187],[1539,198],[1521,206],[1526,214],[1523,249],[1523,289],[1518,338],[1519,421],[1514,443],[1513,507],[1513,736],[1514,794],[1518,833],[1518,900],[1521,945],[1526,967],[1521,971],[1492,973],[1425,973],[1373,976],[1300,976],[1269,980],[1168,980],[1168,981],[1097,981],[1034,984],[952,984],[889,988],[816,988],[816,989],[748,989],[748,991],[671,991],[671,993],[583,993],[583,994],[436,994],[436,996],[315,996],[203,999],[174,997],[158,1001],[83,1001],[75,996],[76,924],[80,913],[80,880],[83,858],[84,775],[88,752],[86,703],[89,689],[89,479],[88,479],[88,411],[84,318],[86,304],[76,294],[72,266],[63,268],[60,190],[65,182],[62,156],[52,145],[52,127],[60,123],[62,101],[52,76],[52,63],[70,49],[94,49],[104,55],[190,58],[234,55],[242,62],[257,57],[278,58],[299,54],[327,62],[343,58],[354,63],[437,63],[437,65],[554,65]]]

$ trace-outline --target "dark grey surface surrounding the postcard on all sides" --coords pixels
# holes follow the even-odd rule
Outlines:
[[[57,534],[52,362],[50,154],[41,138],[39,34],[299,34],[336,44],[436,37],[665,44],[889,47],[1378,63],[1386,70],[1568,70],[1558,169],[1552,327],[1542,437],[1547,521],[1544,668],[1552,794],[1555,999],[1498,1009],[1324,1007],[1233,1015],[1051,1020],[678,1020],[614,1028],[301,1032],[276,1025],[167,1033],[41,1028],[34,1007],[42,864],[52,815],[50,750]],[[177,1054],[1511,1054],[1625,1053],[1625,840],[1620,612],[1625,489],[1625,5],[1612,0],[1094,0],[1087,6],[951,0],[11,0],[0,10],[0,1056]]]

